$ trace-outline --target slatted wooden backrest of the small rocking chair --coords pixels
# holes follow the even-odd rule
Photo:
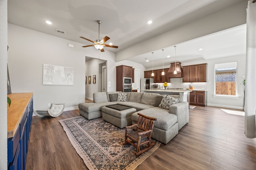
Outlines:
[[[139,115],[139,118],[138,118],[137,128],[142,131],[153,130],[154,121],[156,121],[156,118],[148,117],[148,116],[142,115],[141,113],[138,113],[138,115]]]

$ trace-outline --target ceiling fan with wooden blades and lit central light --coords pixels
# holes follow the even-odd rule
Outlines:
[[[105,47],[118,48],[118,46],[115,46],[115,45],[104,44],[106,41],[108,41],[110,39],[110,37],[108,37],[108,36],[106,36],[102,40],[100,40],[100,23],[101,23],[101,21],[97,20],[97,23],[99,24],[99,37],[98,37],[98,39],[96,39],[95,41],[92,41],[90,39],[87,39],[87,38],[84,38],[84,37],[80,37],[82,39],[86,39],[87,41],[90,41],[90,42],[94,43],[93,45],[85,45],[85,46],[82,46],[82,47],[94,46],[96,49],[100,50],[101,52],[104,52],[104,49],[103,49],[104,46]]]

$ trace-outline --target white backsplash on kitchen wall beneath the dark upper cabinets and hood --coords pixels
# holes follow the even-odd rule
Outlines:
[[[182,78],[171,78],[171,82],[168,83],[168,88],[184,88],[186,89],[189,85],[193,86],[193,89],[204,89],[207,90],[207,82],[194,82],[194,83],[183,83]],[[158,88],[162,88],[163,83],[158,84]]]

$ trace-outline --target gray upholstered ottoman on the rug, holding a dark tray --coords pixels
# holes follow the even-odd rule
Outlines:
[[[136,109],[130,108],[125,110],[116,110],[109,107],[102,107],[102,119],[117,126],[121,129],[132,125],[132,113],[136,112]]]

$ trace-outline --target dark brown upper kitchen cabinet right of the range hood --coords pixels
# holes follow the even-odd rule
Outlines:
[[[207,63],[183,66],[183,82],[206,82]]]

